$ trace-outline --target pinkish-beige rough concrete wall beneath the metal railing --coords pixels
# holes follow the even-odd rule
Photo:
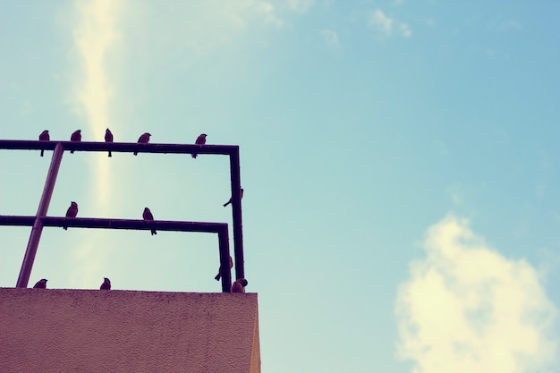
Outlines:
[[[0,372],[259,373],[257,294],[0,288]]]

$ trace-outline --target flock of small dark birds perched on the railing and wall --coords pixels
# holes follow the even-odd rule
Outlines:
[[[140,135],[140,138],[138,139],[138,143],[139,144],[147,144],[149,142],[149,138],[150,138],[151,134],[148,132],[142,133]],[[207,134],[206,133],[201,133],[199,135],[199,137],[197,138],[197,140],[194,142],[196,145],[205,145],[206,144],[206,137]],[[38,136],[38,140],[39,141],[50,141],[50,135],[48,133],[48,130],[42,131],[41,134]],[[81,130],[76,130],[72,132],[72,135],[70,136],[70,140],[74,141],[74,142],[80,142],[81,141]],[[105,142],[113,142],[113,133],[111,132],[111,130],[109,130],[108,128],[105,131]],[[41,157],[43,157],[45,150],[41,149]],[[70,153],[72,154],[74,152],[74,150],[71,150]],[[138,152],[135,151],[134,152],[134,156],[138,156]],[[196,158],[198,156],[197,153],[192,153],[191,155],[193,158]],[[111,150],[109,150],[109,155],[108,157],[113,157],[113,155],[111,154]],[[241,189],[241,198],[243,198],[243,189]],[[225,202],[225,204],[223,205],[224,207],[226,207],[227,205],[232,203],[232,198],[230,198],[227,202]],[[78,204],[74,201],[70,202],[70,207],[66,210],[66,217],[76,217],[78,216]],[[144,220],[154,220],[154,216],[152,215],[152,212],[149,210],[149,208],[144,208],[144,212],[142,213],[142,218]],[[63,226],[64,230],[68,230],[67,226]],[[151,230],[151,235],[157,234],[155,229]],[[233,267],[233,259],[232,257],[229,258],[230,261],[230,269]],[[221,273],[218,272],[218,274],[216,275],[216,277],[214,277],[216,279],[216,281],[219,281],[221,278]],[[34,289],[46,289],[47,288],[47,279],[43,278],[41,280],[39,280],[34,286]],[[237,279],[235,282],[233,282],[232,287],[231,287],[231,292],[245,292],[245,286],[247,286],[248,282],[246,279],[244,278],[239,278]],[[99,287],[100,290],[111,290],[111,281],[104,277],[103,278],[103,284],[101,284],[101,286]]]

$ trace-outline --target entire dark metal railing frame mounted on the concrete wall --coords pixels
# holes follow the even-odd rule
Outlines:
[[[229,237],[225,223],[196,223],[175,221],[97,219],[97,218],[65,218],[47,216],[52,197],[56,175],[60,168],[64,151],[108,151],[138,153],[171,153],[171,154],[214,154],[229,156],[230,176],[232,185],[233,215],[233,251],[235,277],[243,278],[243,238],[242,238],[242,206],[241,206],[241,175],[239,147],[236,145],[191,145],[191,144],[139,144],[128,142],[73,142],[73,141],[38,141],[38,140],[0,140],[0,149],[11,150],[55,150],[47,173],[45,188],[39,201],[36,216],[0,216],[0,225],[32,226],[30,241],[21,264],[17,287],[27,287],[33,261],[38,249],[43,226],[73,226],[82,228],[133,229],[147,230],[152,227],[161,231],[208,232],[218,234],[220,248],[220,271],[222,274],[222,291],[229,292],[231,286],[231,269],[229,268]]]

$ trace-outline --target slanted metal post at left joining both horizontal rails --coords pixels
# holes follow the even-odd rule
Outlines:
[[[50,204],[51,197],[53,196],[56,175],[58,174],[63,154],[64,145],[61,143],[56,144],[55,152],[53,153],[53,158],[51,159],[51,165],[48,168],[47,181],[45,182],[45,188],[43,188],[43,195],[41,196],[41,200],[38,204],[35,223],[33,224],[33,228],[31,228],[30,241],[27,243],[27,250],[25,250],[25,256],[23,257],[20,276],[18,277],[16,287],[27,287],[27,284],[30,281],[31,268],[33,267],[35,254],[37,254],[38,242],[41,239],[41,233],[43,232],[42,218],[47,216],[48,205]]]

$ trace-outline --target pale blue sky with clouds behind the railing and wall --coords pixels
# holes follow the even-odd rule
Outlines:
[[[0,2],[0,139],[239,145],[262,371],[560,371],[560,4]],[[52,152],[0,150],[0,215]],[[227,157],[65,153],[48,216],[229,223]],[[0,227],[0,286],[29,227]],[[230,229],[230,239],[233,233]],[[219,292],[216,234],[45,228],[48,287]]]

